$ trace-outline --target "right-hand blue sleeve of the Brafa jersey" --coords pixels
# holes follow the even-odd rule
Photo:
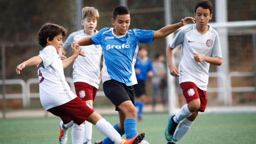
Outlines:
[[[136,35],[139,43],[152,43],[153,42],[153,35],[155,31],[152,30],[140,30],[140,29],[133,29],[133,33]]]

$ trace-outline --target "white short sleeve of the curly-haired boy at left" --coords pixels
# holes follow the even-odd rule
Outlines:
[[[46,68],[53,63],[55,52],[56,49],[53,46],[47,46],[41,51],[38,56],[43,60],[43,63],[40,64],[43,68]]]

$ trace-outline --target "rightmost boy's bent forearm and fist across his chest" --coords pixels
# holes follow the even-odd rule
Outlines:
[[[218,65],[220,66],[222,64],[222,58],[218,58],[218,57],[209,57],[209,56],[203,56],[203,55],[200,55],[196,52],[194,52],[194,60],[196,62],[203,62],[203,61],[206,61],[210,64],[213,64],[213,65]]]

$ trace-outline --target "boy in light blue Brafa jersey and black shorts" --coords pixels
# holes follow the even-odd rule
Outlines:
[[[101,44],[104,53],[103,90],[119,113],[120,121],[114,125],[114,128],[120,135],[126,134],[126,138],[130,139],[138,133],[132,86],[137,84],[134,65],[139,43],[152,43],[154,39],[166,37],[186,25],[189,20],[194,22],[195,19],[186,17],[180,23],[163,27],[158,31],[139,29],[128,31],[131,21],[129,10],[124,6],[117,6],[111,19],[115,28],[103,28],[97,34],[73,43],[81,46]],[[105,138],[95,143],[110,144],[113,142]]]

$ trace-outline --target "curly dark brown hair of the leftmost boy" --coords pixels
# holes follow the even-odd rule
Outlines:
[[[62,36],[67,35],[67,29],[65,29],[63,26],[52,24],[52,23],[45,23],[39,30],[37,39],[38,43],[45,47],[47,44],[47,38],[49,37],[50,41],[53,40],[53,38],[59,34],[62,34]]]

